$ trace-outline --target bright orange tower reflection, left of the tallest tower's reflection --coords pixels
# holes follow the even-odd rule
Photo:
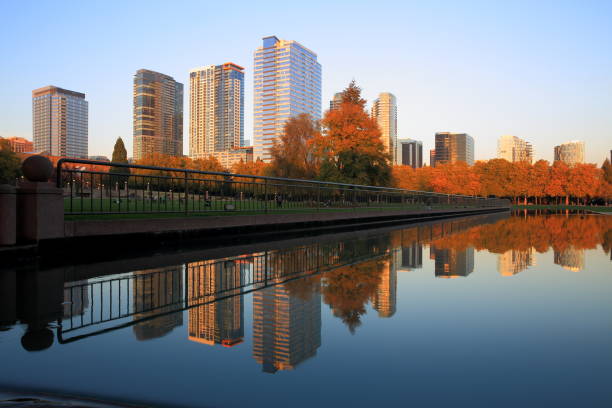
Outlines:
[[[190,306],[189,340],[213,346],[231,347],[244,337],[244,299],[242,291],[246,269],[240,261],[201,261],[187,265]],[[220,297],[231,296],[216,300]]]

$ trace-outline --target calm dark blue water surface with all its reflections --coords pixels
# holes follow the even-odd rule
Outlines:
[[[612,217],[490,215],[0,275],[0,388],[612,406]]]

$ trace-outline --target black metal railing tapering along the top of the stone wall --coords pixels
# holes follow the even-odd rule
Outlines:
[[[67,215],[510,206],[497,198],[68,158],[58,161],[56,177]]]

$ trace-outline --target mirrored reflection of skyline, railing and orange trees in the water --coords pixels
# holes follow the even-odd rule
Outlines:
[[[182,326],[182,313],[177,312],[189,308],[189,340],[239,345],[245,336],[244,291],[254,290],[253,357],[264,371],[274,372],[316,354],[321,344],[321,302],[352,333],[362,324],[368,305],[378,317],[393,317],[397,273],[422,268],[424,246],[429,247],[436,278],[468,277],[476,269],[475,250],[496,254],[501,276],[534,266],[536,253],[551,248],[554,263],[571,271],[584,268],[585,249],[601,244],[609,252],[606,237],[612,223],[607,217],[487,220],[474,217],[416,225],[143,269],[109,281],[96,277],[62,283],[64,332],[80,327],[95,331],[97,325],[131,317],[136,339],[150,340]]]

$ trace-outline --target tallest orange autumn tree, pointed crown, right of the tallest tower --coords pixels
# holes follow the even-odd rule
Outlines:
[[[352,81],[342,103],[321,121],[323,132],[310,143],[321,161],[319,179],[372,186],[391,185],[390,155],[376,120],[365,110],[361,89]]]

